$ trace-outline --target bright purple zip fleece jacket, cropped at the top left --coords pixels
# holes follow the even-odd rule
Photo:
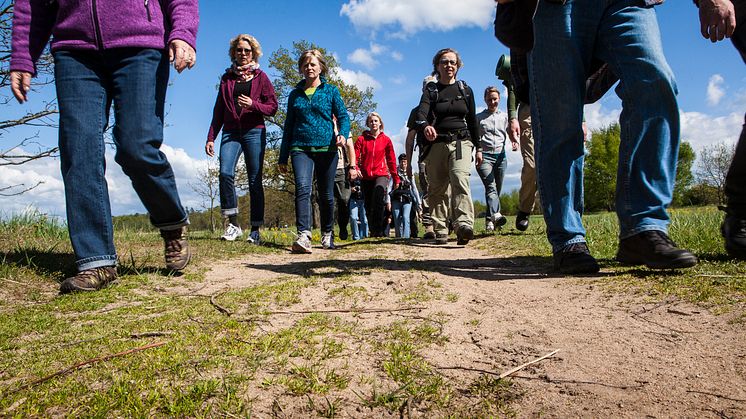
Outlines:
[[[35,74],[50,35],[52,51],[163,49],[174,39],[196,49],[198,25],[198,0],[16,0],[10,70]]]

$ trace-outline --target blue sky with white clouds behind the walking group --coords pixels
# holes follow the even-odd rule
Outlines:
[[[683,138],[695,150],[710,143],[736,141],[746,111],[746,66],[740,56],[730,41],[713,45],[701,37],[697,9],[691,2],[671,0],[656,11],[664,50],[677,77]],[[293,41],[308,40],[335,54],[346,81],[374,88],[377,110],[397,154],[403,152],[406,118],[417,104],[421,80],[431,70],[435,51],[443,47],[459,51],[465,63],[459,78],[472,86],[477,97],[486,86],[497,84],[495,63],[507,52],[492,34],[493,0],[224,0],[200,2],[200,13],[197,66],[182,74],[172,72],[163,148],[174,166],[184,205],[195,208],[200,208],[202,201],[189,183],[195,181],[197,169],[207,164],[204,142],[215,86],[229,65],[228,41],[236,34],[249,33],[261,42],[264,57],[260,62],[270,77],[269,56],[279,47],[291,47]],[[53,94],[52,88],[33,92],[29,104],[13,102],[4,105],[2,112],[20,114]],[[500,107],[505,110],[504,101]],[[610,92],[586,107],[586,119],[590,128],[599,128],[617,120],[620,111],[620,101]],[[14,138],[33,132],[4,133],[0,144],[6,148],[16,143]],[[39,141],[55,144],[56,135],[54,129],[41,130]],[[508,156],[504,191],[519,186],[519,153],[508,152]],[[144,212],[129,180],[111,156],[108,160],[114,213]],[[33,207],[64,217],[59,161],[0,167],[0,187],[36,181],[44,183],[22,196],[0,199],[0,216]],[[474,173],[472,192],[475,199],[484,200]]]

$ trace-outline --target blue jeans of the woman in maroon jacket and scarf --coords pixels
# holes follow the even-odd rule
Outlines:
[[[254,128],[249,131],[223,131],[220,139],[220,212],[223,216],[238,214],[235,175],[238,158],[243,152],[246,173],[249,175],[251,225],[264,224],[264,148],[267,130]]]

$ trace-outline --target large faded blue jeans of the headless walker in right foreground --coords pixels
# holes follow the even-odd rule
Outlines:
[[[620,78],[620,238],[666,231],[679,149],[676,82],[653,8],[639,0],[540,1],[529,59],[539,195],[553,250],[585,242],[583,99],[596,57]]]

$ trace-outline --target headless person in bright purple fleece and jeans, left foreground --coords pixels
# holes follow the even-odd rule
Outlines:
[[[178,72],[194,66],[198,22],[197,0],[16,0],[10,80],[20,103],[53,36],[60,163],[78,270],[61,293],[94,291],[117,279],[104,177],[112,103],[115,160],[160,229],[166,267],[178,271],[189,262],[189,219],[160,146],[169,61]]]

